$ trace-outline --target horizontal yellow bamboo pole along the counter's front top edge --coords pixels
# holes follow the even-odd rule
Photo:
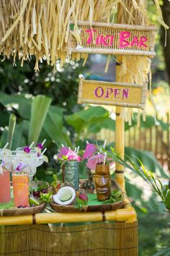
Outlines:
[[[30,216],[4,216],[0,217],[0,226],[98,221],[132,223],[136,221],[136,213],[127,198],[125,199],[125,208],[119,210],[97,213],[37,213]]]

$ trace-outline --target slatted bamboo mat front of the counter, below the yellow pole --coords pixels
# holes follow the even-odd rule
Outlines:
[[[1,226],[0,231],[1,255],[138,255],[138,221],[79,226]]]

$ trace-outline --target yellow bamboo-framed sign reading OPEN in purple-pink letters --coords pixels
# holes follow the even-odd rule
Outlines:
[[[79,82],[78,103],[145,108],[147,83],[136,85],[123,82],[84,80]]]

